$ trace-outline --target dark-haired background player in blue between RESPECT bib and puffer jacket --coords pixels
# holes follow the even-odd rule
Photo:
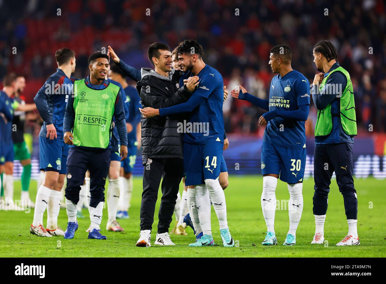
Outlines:
[[[126,100],[125,105],[129,109],[129,118],[127,122],[127,159],[122,161],[120,181],[123,186],[120,187],[119,205],[117,218],[129,218],[129,208],[131,195],[133,190],[132,171],[137,158],[137,127],[141,122],[141,112],[139,108],[142,107],[141,99],[138,95],[137,89],[130,86],[125,77],[125,73],[117,66],[112,65],[108,71],[108,76],[112,80],[119,82],[124,89]]]

